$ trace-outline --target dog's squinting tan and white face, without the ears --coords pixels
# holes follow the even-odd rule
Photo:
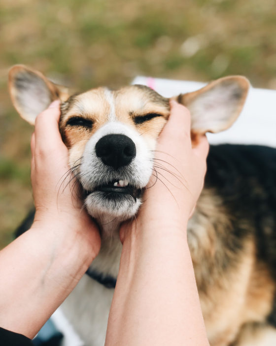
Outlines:
[[[94,216],[129,218],[149,181],[169,102],[147,87],[98,88],[69,97],[60,129]]]

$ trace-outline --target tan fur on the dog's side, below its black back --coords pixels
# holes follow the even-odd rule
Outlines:
[[[268,269],[256,262],[252,237],[235,255],[234,264],[222,267],[227,249],[218,240],[220,234],[223,239],[228,233],[231,216],[221,202],[215,191],[204,189],[188,225],[189,248],[211,346],[228,346],[244,324],[263,322],[272,309],[275,292]]]

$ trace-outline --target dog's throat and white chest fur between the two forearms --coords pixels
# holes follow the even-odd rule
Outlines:
[[[122,244],[119,239],[119,222],[107,223],[103,227],[102,247],[90,269],[97,273],[117,277]],[[61,308],[85,346],[104,346],[109,309],[114,289],[84,275]]]

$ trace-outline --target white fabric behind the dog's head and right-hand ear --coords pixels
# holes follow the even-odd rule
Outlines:
[[[132,84],[152,87],[165,97],[195,91],[206,83],[136,77]],[[220,133],[207,133],[211,144],[260,144],[276,147],[276,90],[251,87],[236,123]]]

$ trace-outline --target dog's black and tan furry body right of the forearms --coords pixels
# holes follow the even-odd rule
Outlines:
[[[274,148],[210,147],[188,238],[212,346],[276,345],[275,206]]]

